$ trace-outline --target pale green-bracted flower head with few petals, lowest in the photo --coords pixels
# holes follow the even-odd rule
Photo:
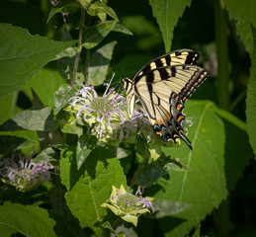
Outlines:
[[[136,226],[140,214],[150,212],[149,209],[153,211],[152,200],[152,197],[141,197],[139,188],[136,194],[132,195],[123,185],[120,189],[113,186],[111,197],[102,206],[110,208],[116,215]]]

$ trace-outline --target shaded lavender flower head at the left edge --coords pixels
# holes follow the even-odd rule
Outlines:
[[[47,161],[33,163],[32,158],[20,155],[17,162],[14,157],[0,161],[0,176],[2,182],[15,186],[20,192],[27,192],[48,181],[49,170],[53,168]]]

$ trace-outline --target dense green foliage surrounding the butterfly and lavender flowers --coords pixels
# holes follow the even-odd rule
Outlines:
[[[251,159],[256,154],[255,1],[61,0],[52,7],[38,3],[33,17],[21,11],[21,23],[15,9],[31,3],[6,1],[3,6],[0,171],[5,159],[17,160],[19,155],[54,169],[51,180],[24,194],[3,183],[0,172],[0,235],[196,237],[256,232]],[[7,16],[6,6],[14,11],[10,19],[2,17]],[[42,15],[36,18],[38,12]],[[25,29],[34,23],[34,31]],[[184,133],[188,129],[193,151],[183,141],[162,142],[143,124],[136,131],[135,123],[121,128],[120,115],[113,124],[104,123],[113,136],[101,137],[99,108],[105,106],[102,114],[112,107],[127,110],[126,105],[101,101],[102,96],[121,96],[122,76],[131,76],[176,47],[199,51],[201,66],[211,74],[185,104],[185,116],[193,125],[188,122]],[[110,80],[116,90],[108,94],[104,91]],[[102,104],[93,104],[93,92],[90,106],[79,98],[80,89],[89,86]],[[87,111],[71,106],[75,100]],[[98,118],[87,120],[92,111]],[[140,187],[144,194],[133,197],[153,199],[154,212],[135,216],[136,227],[123,221],[126,215],[122,219],[102,207],[113,198],[113,186],[122,185],[128,196]],[[111,200],[114,206],[115,197]],[[130,203],[124,203],[128,208]]]

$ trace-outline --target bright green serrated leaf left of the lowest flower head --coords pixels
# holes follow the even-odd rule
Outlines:
[[[85,225],[96,228],[107,210],[101,207],[111,195],[112,186],[126,186],[126,176],[120,161],[108,148],[97,147],[82,167],[76,169],[75,148],[61,151],[60,177],[67,188],[67,204],[73,214]]]

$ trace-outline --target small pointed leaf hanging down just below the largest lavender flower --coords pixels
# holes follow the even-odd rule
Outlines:
[[[97,137],[94,135],[88,136],[87,134],[84,134],[78,138],[76,146],[76,164],[78,170],[90,153],[95,149],[97,141]]]

